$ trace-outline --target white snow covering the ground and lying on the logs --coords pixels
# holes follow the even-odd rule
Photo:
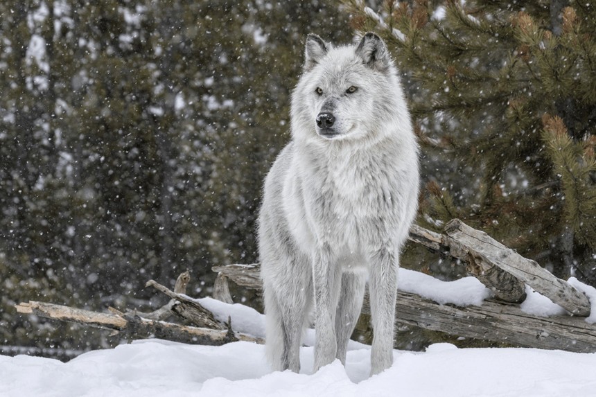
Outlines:
[[[414,273],[401,270],[404,289],[467,304],[480,304],[487,296],[475,279],[453,284]],[[534,294],[528,309],[556,312],[552,302]],[[236,330],[263,335],[258,312],[200,301],[222,319],[231,315]],[[310,345],[313,339],[309,330],[304,342]],[[369,361],[369,346],[351,342],[345,368],[333,362],[312,373],[313,348],[306,346],[302,373],[272,372],[258,344],[213,347],[148,339],[91,351],[67,363],[0,355],[0,396],[596,396],[596,354],[434,344],[424,353],[394,351],[393,367],[371,378]]]

